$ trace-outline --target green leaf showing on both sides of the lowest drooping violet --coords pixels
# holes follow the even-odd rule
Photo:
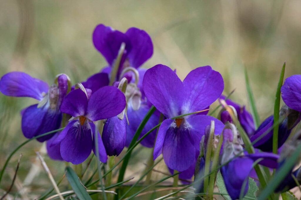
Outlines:
[[[226,186],[225,186],[224,179],[223,179],[222,174],[221,174],[220,171],[217,173],[216,185],[217,185],[217,188],[219,189],[220,193],[228,194]],[[249,198],[243,198],[243,199],[250,199],[250,197],[251,198],[256,198],[256,192],[257,191],[258,191],[257,184],[255,183],[253,178],[249,178],[249,189],[248,189],[248,192],[246,194],[246,196],[249,197]],[[231,200],[231,197],[229,195],[222,195],[222,196],[226,200]]]

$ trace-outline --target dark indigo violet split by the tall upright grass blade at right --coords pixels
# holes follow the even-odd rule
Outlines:
[[[292,129],[300,122],[301,114],[298,111],[288,108],[286,105],[280,109],[280,119],[285,117],[283,122],[280,123],[278,129],[278,147],[281,147],[287,140]],[[253,147],[262,151],[272,152],[273,150],[273,115],[266,118],[262,124],[255,131],[254,135],[250,138],[251,142],[261,137]],[[262,136],[263,135],[263,136]]]

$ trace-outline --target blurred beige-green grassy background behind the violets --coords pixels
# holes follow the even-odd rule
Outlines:
[[[125,32],[135,26],[147,31],[154,43],[154,55],[143,67],[168,65],[176,68],[183,80],[191,69],[211,65],[224,77],[225,94],[236,89],[232,98],[241,104],[247,104],[246,67],[264,120],[273,112],[283,62],[287,62],[285,77],[301,73],[299,8],[298,0],[0,0],[0,75],[24,71],[49,84],[59,73],[68,74],[73,83],[85,80],[107,64],[92,44],[94,27],[104,23]],[[34,102],[0,95],[1,167],[8,154],[25,141],[19,111]],[[19,151],[23,153],[20,182],[36,159],[34,151],[40,147],[34,141]],[[137,160],[142,159],[140,163],[146,162],[141,155],[148,151],[144,149],[137,155]],[[16,155],[10,162],[11,170],[17,159]],[[54,177],[62,175],[64,163],[47,163]],[[2,189],[10,185],[8,174],[9,170]],[[130,175],[129,172],[127,176]],[[44,182],[49,185],[44,172],[35,180],[37,189]]]

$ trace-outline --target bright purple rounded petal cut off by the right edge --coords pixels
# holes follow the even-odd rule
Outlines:
[[[285,79],[281,96],[288,107],[301,112],[301,75],[292,75]]]

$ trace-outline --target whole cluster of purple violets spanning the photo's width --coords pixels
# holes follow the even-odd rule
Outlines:
[[[4,95],[39,101],[21,111],[21,129],[26,138],[38,136],[39,142],[46,141],[51,159],[80,164],[92,150],[96,153],[95,145],[98,145],[100,161],[107,162],[108,156],[118,156],[130,144],[153,105],[156,111],[139,137],[162,123],[159,130],[147,135],[141,144],[154,148],[154,159],[162,154],[170,172],[181,172],[182,179],[191,179],[196,171],[202,171],[206,158],[205,154],[200,157],[200,146],[206,151],[206,145],[212,142],[208,141],[212,121],[214,135],[223,134],[220,171],[232,199],[239,198],[248,177],[257,180],[253,163],[258,159],[258,164],[268,168],[279,168],[285,160],[281,148],[301,119],[301,75],[288,77],[281,88],[285,105],[280,111],[284,120],[279,124],[279,156],[272,153],[273,116],[256,129],[245,106],[222,95],[223,78],[210,66],[192,70],[183,81],[165,65],[158,64],[147,70],[139,68],[152,56],[153,44],[144,30],[134,27],[123,33],[100,24],[93,32],[92,41],[107,60],[107,66],[74,86],[66,74],[57,75],[51,86],[19,71],[9,72],[0,80],[0,91]],[[222,109],[219,119],[207,115],[209,106],[216,100],[225,101],[232,109],[254,142],[255,153],[244,151],[244,143],[228,110]],[[177,117],[181,115],[185,116]],[[100,123],[104,123],[101,135]],[[60,127],[64,129],[40,137]],[[298,176],[299,170],[293,173]],[[277,190],[293,186],[296,183],[288,176]],[[247,190],[248,184],[245,184],[244,194]]]

